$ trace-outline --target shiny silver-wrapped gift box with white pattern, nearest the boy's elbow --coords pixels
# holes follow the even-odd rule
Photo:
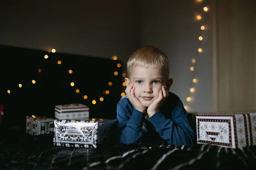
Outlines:
[[[104,147],[116,142],[115,119],[56,119],[54,120],[55,146]]]

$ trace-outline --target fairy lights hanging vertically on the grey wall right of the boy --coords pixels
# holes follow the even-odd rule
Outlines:
[[[197,4],[202,3],[203,0],[196,0]],[[209,7],[207,6],[203,6],[202,8],[202,12],[208,12],[209,11]],[[189,68],[190,71],[192,71],[192,75],[193,78],[190,81],[190,89],[189,89],[189,95],[186,98],[186,102],[184,102],[184,108],[186,109],[186,111],[189,111],[189,102],[192,102],[194,100],[194,94],[195,94],[195,87],[196,84],[198,83],[198,77],[195,76],[195,68],[199,59],[199,55],[204,51],[204,49],[201,47],[201,42],[204,39],[204,34],[203,31],[205,31],[207,29],[207,24],[203,23],[203,15],[202,12],[200,11],[199,14],[195,14],[195,21],[197,21],[200,24],[200,35],[198,37],[198,41],[199,41],[199,47],[197,49],[197,55],[191,59],[191,67]]]

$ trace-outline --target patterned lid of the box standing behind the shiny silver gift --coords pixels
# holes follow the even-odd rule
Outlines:
[[[89,107],[81,103],[67,104],[67,105],[55,105],[55,111],[59,113],[67,113],[73,111],[89,111]]]

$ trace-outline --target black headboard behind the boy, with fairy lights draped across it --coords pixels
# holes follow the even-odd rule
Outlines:
[[[44,55],[48,55],[48,59]],[[61,60],[61,64],[57,61]],[[121,98],[122,67],[119,60],[0,45],[0,104],[3,125],[26,125],[26,116],[54,117],[54,106],[82,103],[89,106],[90,118],[116,119]],[[39,73],[38,69],[42,72]],[[73,74],[69,74],[69,70]],[[113,73],[118,71],[115,76]],[[32,79],[36,81],[32,84]],[[71,86],[74,82],[75,86]],[[113,85],[109,86],[108,82]],[[22,88],[19,88],[19,84]],[[76,93],[76,89],[80,93]],[[7,93],[11,91],[11,94]],[[109,90],[110,94],[104,94]],[[88,99],[83,99],[87,95]],[[99,98],[104,101],[100,102]],[[92,100],[96,104],[92,104]]]

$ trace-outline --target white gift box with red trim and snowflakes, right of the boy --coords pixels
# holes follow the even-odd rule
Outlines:
[[[256,145],[256,113],[195,115],[197,143],[241,148]]]

